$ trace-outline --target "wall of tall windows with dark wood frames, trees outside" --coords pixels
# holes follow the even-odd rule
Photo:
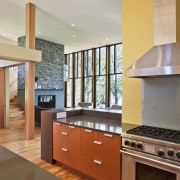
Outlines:
[[[122,105],[122,44],[113,44],[65,55],[69,81],[65,105],[93,102],[93,107]]]

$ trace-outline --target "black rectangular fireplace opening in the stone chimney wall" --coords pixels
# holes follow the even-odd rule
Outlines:
[[[56,95],[38,95],[38,106],[43,108],[55,108]]]

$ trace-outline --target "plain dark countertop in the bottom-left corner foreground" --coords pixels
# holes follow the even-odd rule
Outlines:
[[[36,166],[0,146],[0,179],[2,180],[60,180],[53,174]]]

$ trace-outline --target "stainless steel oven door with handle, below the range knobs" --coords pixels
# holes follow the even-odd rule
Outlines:
[[[121,150],[121,180],[180,180],[180,163],[131,150]]]

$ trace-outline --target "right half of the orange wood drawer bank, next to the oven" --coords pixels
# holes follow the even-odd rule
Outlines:
[[[120,179],[120,136],[81,129],[81,171],[98,180]]]

